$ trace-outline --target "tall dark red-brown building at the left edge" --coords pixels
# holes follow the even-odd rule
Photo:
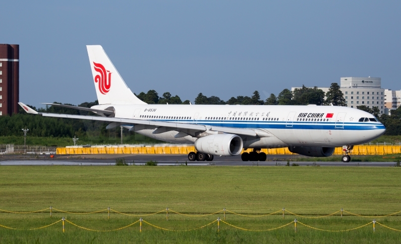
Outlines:
[[[18,113],[20,46],[0,44],[0,116]]]

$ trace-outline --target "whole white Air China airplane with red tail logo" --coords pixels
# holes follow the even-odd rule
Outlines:
[[[30,114],[45,117],[108,122],[107,129],[123,126],[130,131],[172,143],[193,143],[190,161],[214,156],[237,156],[243,161],[265,161],[262,148],[288,147],[291,152],[327,157],[342,146],[341,160],[349,162],[354,145],[369,142],[385,132],[372,114],[340,106],[283,105],[171,105],[146,104],[128,88],[100,45],[88,45],[90,67],[99,105],[82,108],[98,116],[39,113],[23,103]]]

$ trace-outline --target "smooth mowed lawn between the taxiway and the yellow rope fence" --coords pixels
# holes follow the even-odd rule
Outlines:
[[[186,213],[401,210],[401,168],[0,166],[0,209]]]

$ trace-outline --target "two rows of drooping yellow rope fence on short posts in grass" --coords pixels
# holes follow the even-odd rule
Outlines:
[[[384,224],[382,224],[382,223],[377,222],[376,219],[373,219],[373,221],[370,221],[370,222],[368,222],[368,223],[366,223],[366,224],[363,224],[363,225],[361,225],[361,226],[357,226],[357,227],[350,228],[350,229],[341,229],[341,230],[321,229],[321,228],[313,227],[313,226],[310,226],[310,225],[308,225],[308,224],[302,223],[302,222],[300,222],[300,221],[297,220],[297,219],[294,219],[294,221],[291,221],[291,222],[289,222],[289,223],[287,223],[287,224],[284,224],[284,225],[281,225],[281,226],[278,226],[278,227],[273,227],[273,228],[268,228],[268,229],[260,229],[260,230],[256,230],[256,229],[247,229],[247,228],[239,227],[239,226],[236,226],[236,225],[234,225],[234,224],[231,224],[231,223],[228,223],[228,222],[225,221],[226,212],[232,213],[232,214],[236,214],[236,215],[240,215],[240,216],[244,216],[244,217],[262,217],[262,216],[274,215],[274,214],[277,214],[277,213],[279,213],[279,212],[281,212],[281,211],[282,211],[282,216],[283,216],[283,218],[284,218],[284,213],[285,213],[285,211],[287,211],[287,213],[289,213],[289,214],[292,214],[292,215],[295,215],[295,216],[298,216],[298,217],[301,217],[301,218],[323,218],[323,217],[333,216],[334,214],[339,213],[339,212],[341,212],[341,218],[342,218],[342,216],[343,216],[343,214],[342,214],[343,212],[346,212],[346,213],[348,213],[348,214],[350,214],[350,215],[353,215],[353,216],[372,217],[372,216],[368,216],[368,215],[355,214],[355,213],[352,213],[352,212],[349,212],[349,211],[345,211],[345,210],[343,210],[342,208],[341,208],[341,210],[338,210],[338,211],[336,211],[336,212],[334,212],[334,213],[331,213],[331,214],[327,214],[327,215],[323,215],[323,216],[313,216],[313,217],[311,217],[311,216],[299,215],[299,214],[290,212],[290,211],[288,211],[288,210],[285,210],[285,208],[280,209],[280,210],[275,211],[275,212],[272,212],[272,213],[269,213],[269,214],[262,214],[262,215],[246,215],[246,214],[240,214],[240,213],[236,213],[236,212],[227,210],[227,209],[225,209],[225,208],[222,209],[222,210],[219,210],[219,211],[217,211],[217,212],[208,213],[208,214],[185,214],[185,213],[180,213],[180,212],[177,212],[177,211],[174,211],[174,210],[171,210],[171,209],[166,208],[166,209],[163,209],[163,210],[158,211],[158,212],[154,212],[154,213],[150,213],[150,214],[142,214],[142,215],[123,213],[123,212],[119,212],[119,211],[113,210],[113,209],[111,209],[110,207],[108,207],[108,208],[106,208],[106,209],[99,210],[99,211],[92,211],[92,212],[71,212],[71,211],[64,211],[64,210],[60,210],[60,209],[55,209],[55,208],[52,208],[52,207],[46,208],[46,209],[41,209],[41,210],[36,210],[36,211],[29,211],[29,212],[16,212],[16,211],[8,211],[8,210],[0,209],[0,211],[5,212],[5,213],[19,213],[19,214],[41,213],[41,212],[45,212],[46,210],[50,210],[50,217],[52,216],[52,215],[51,215],[52,212],[54,212],[53,210],[58,211],[58,212],[60,212],[60,213],[69,213],[69,214],[93,214],[93,213],[101,213],[101,212],[104,212],[104,211],[107,210],[107,218],[108,218],[108,219],[110,218],[110,210],[113,211],[113,212],[115,212],[115,213],[119,213],[119,214],[123,214],[123,215],[129,215],[129,216],[149,216],[149,215],[153,215],[153,214],[162,213],[162,212],[165,211],[165,212],[167,213],[167,220],[168,220],[168,210],[169,210],[170,212],[173,212],[173,213],[176,213],[176,214],[185,215],[185,216],[190,216],[190,217],[209,216],[209,215],[214,215],[214,214],[218,214],[218,213],[223,212],[224,220],[222,220],[222,219],[220,219],[220,218],[218,217],[216,220],[214,220],[214,221],[212,221],[212,222],[210,222],[210,223],[208,223],[208,224],[205,224],[205,225],[202,225],[202,226],[196,227],[196,228],[185,229],[185,230],[168,229],[168,228],[160,227],[160,226],[154,225],[154,224],[152,224],[152,223],[149,223],[149,222],[143,220],[142,217],[141,217],[139,220],[137,220],[137,221],[135,221],[135,222],[132,222],[132,223],[126,225],[126,226],[123,226],[123,227],[120,227],[120,228],[116,228],[116,229],[109,229],[109,230],[96,230],[96,229],[91,229],[91,228],[83,227],[83,226],[81,226],[81,225],[78,225],[78,224],[76,224],[76,223],[73,223],[73,222],[69,221],[69,220],[66,219],[65,217],[62,217],[62,219],[60,219],[60,220],[58,220],[58,221],[55,221],[55,222],[53,222],[53,223],[50,223],[50,224],[47,224],[47,225],[44,225],[44,226],[41,226],[41,227],[36,227],[36,228],[21,229],[21,228],[15,228],[15,227],[10,227],[10,226],[6,226],[6,225],[2,225],[2,224],[0,224],[0,227],[7,228],[7,229],[13,229],[13,230],[37,230],[37,229],[42,229],[42,228],[50,227],[50,226],[52,226],[52,225],[54,225],[54,224],[59,223],[59,222],[62,221],[62,224],[63,224],[63,232],[65,232],[65,222],[67,222],[67,223],[69,223],[69,224],[71,224],[71,225],[73,225],[73,226],[75,226],[75,227],[84,229],[84,230],[97,231],[97,232],[110,232],[110,231],[118,231],[118,230],[122,230],[122,229],[128,228],[128,227],[133,226],[133,225],[135,225],[136,223],[139,222],[139,223],[140,223],[140,227],[139,227],[139,231],[140,231],[140,232],[142,232],[142,225],[143,225],[142,223],[146,223],[146,224],[148,224],[149,226],[152,226],[152,227],[154,227],[154,228],[156,228],[156,229],[161,229],[161,230],[165,230],[165,231],[183,232],[183,231],[193,231],[193,230],[197,230],[197,229],[202,229],[202,228],[205,228],[205,227],[207,227],[207,226],[209,226],[209,225],[212,225],[213,223],[216,223],[216,222],[217,222],[217,231],[220,231],[220,222],[221,222],[221,223],[226,224],[227,226],[231,226],[231,227],[233,227],[233,228],[235,228],[235,229],[240,229],[240,230],[245,230],[245,231],[272,231],[272,230],[280,229],[280,228],[283,228],[283,227],[285,227],[285,226],[288,226],[288,225],[294,223],[294,230],[295,230],[295,232],[297,232],[297,223],[299,223],[299,224],[301,224],[301,225],[303,225],[303,226],[305,226],[305,227],[308,227],[308,228],[311,228],[311,229],[314,229],[314,230],[327,231],[327,232],[352,231],[352,230],[356,230],[356,229],[365,227],[365,226],[370,225],[370,224],[373,224],[373,231],[375,231],[375,229],[376,229],[376,228],[375,228],[375,227],[376,227],[375,224],[379,224],[380,226],[383,226],[383,227],[385,227],[385,228],[387,228],[387,229],[394,230],[394,231],[400,231],[400,232],[401,232],[400,229],[395,229],[395,228],[386,226],[386,225],[384,225]],[[391,213],[391,214],[381,215],[381,216],[374,216],[374,217],[380,218],[380,217],[392,216],[392,215],[395,215],[395,214],[400,213],[400,212],[401,212],[401,211],[397,211],[397,212],[394,212],[394,213]],[[279,213],[279,214],[281,214],[281,213]]]

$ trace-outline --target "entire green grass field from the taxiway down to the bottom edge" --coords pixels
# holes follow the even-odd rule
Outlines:
[[[266,214],[285,209],[308,217],[330,214],[343,208],[364,215],[385,215],[401,210],[399,175],[401,168],[366,167],[94,167],[0,166],[0,209],[33,211],[53,208],[72,212],[96,211],[110,207],[128,214],[153,213],[168,207],[181,213],[212,213],[223,208],[242,214]],[[345,213],[346,214],[346,213]],[[113,229],[137,221],[137,216],[111,213],[70,214],[0,213],[0,224],[34,228],[59,220],[62,216],[93,229]],[[399,217],[398,217],[399,216]],[[157,226],[184,230],[223,218],[222,213],[190,217],[165,213],[143,216]],[[244,217],[227,213],[226,222],[247,229],[268,229],[294,220],[280,214]],[[345,215],[310,219],[297,217],[305,224],[331,230],[353,228],[376,218],[380,223],[401,229],[401,214],[391,217]],[[199,230],[170,232],[144,223],[115,232],[91,232],[66,223],[39,230],[0,228],[0,242],[6,243],[399,243],[401,233],[376,225],[349,232],[323,232],[294,224],[269,232],[238,230],[216,222]]]

